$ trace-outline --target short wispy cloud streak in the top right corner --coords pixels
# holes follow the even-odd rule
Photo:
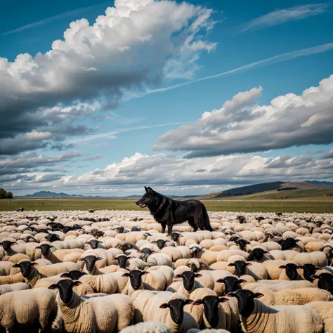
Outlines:
[[[288,21],[301,20],[302,18],[308,18],[309,16],[319,15],[327,11],[329,6],[330,4],[308,4],[286,9],[278,9],[245,23],[241,32],[246,32],[248,30],[260,30],[265,27],[282,25]]]

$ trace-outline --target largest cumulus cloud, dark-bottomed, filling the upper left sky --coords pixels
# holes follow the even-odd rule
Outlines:
[[[66,123],[71,131],[58,133],[66,128],[60,122],[116,107],[129,91],[191,77],[200,53],[216,46],[201,33],[214,25],[211,13],[185,2],[116,0],[93,25],[70,23],[50,51],[22,53],[13,62],[0,58],[0,145],[46,128],[61,141],[79,124]],[[87,131],[81,127],[77,135]],[[46,141],[40,143],[25,150]]]

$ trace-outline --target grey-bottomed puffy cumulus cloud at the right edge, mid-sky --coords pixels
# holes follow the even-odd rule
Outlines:
[[[197,122],[157,138],[152,149],[204,157],[333,142],[333,75],[303,91],[258,105],[261,87],[237,93]]]

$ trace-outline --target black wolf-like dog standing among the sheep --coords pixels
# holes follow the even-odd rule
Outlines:
[[[162,225],[162,233],[168,226],[168,234],[172,233],[174,224],[188,221],[188,224],[197,231],[211,228],[206,207],[198,200],[176,201],[145,187],[145,195],[136,202],[141,208],[148,207],[155,221]]]

